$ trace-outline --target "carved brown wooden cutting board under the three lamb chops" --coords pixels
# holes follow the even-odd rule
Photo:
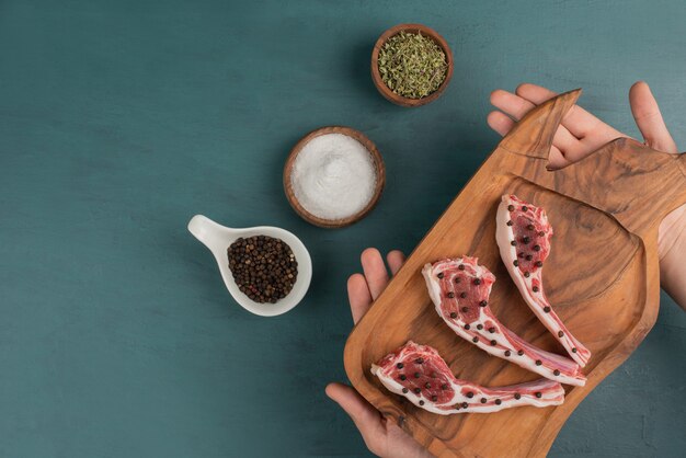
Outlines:
[[[579,403],[639,345],[658,317],[658,227],[686,203],[686,154],[668,154],[628,138],[605,145],[562,170],[546,169],[562,116],[581,90],[533,110],[500,142],[422,240],[351,333],[345,370],[353,386],[389,421],[437,456],[545,456]],[[498,280],[490,306],[515,333],[564,354],[534,317],[495,244],[502,194],[544,207],[554,230],[546,293],[570,331],[593,353],[585,387],[565,386],[562,405],[442,416],[387,391],[373,363],[413,340],[434,346],[458,378],[484,386],[534,380],[536,374],[489,356],[441,320],[420,273],[427,262],[469,254]]]

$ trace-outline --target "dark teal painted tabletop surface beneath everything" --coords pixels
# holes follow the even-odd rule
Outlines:
[[[415,110],[369,78],[400,22],[436,28],[456,61]],[[681,0],[0,1],[0,456],[366,456],[323,392],[345,379],[358,253],[418,243],[496,144],[495,88],[582,87],[636,136],[627,94],[645,79],[684,149],[685,22]],[[335,124],[376,141],[388,184],[368,218],[323,230],[281,173]],[[195,214],[297,233],[306,300],[273,319],[238,307],[186,231]],[[685,352],[665,296],[550,456],[684,456]]]

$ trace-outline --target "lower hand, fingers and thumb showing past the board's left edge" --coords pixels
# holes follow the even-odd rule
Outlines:
[[[369,310],[371,302],[381,294],[389,280],[378,250],[369,248],[361,257],[364,275],[354,274],[347,279],[347,297],[355,323]],[[404,254],[397,250],[391,251],[386,261],[391,275],[395,275],[404,262]],[[433,457],[400,426],[387,421],[355,389],[343,383],[329,383],[327,396],[350,415],[373,454],[392,458]]]

